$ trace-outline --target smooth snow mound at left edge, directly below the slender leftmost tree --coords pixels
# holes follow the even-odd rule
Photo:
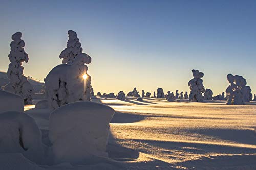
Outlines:
[[[7,111],[23,112],[24,100],[17,94],[0,90],[0,113]]]

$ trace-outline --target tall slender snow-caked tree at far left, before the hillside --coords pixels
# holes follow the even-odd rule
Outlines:
[[[21,95],[24,99],[24,104],[32,104],[32,96],[34,89],[28,79],[23,75],[22,62],[28,62],[29,56],[24,51],[25,42],[22,40],[22,33],[17,32],[12,35],[10,44],[11,51],[8,55],[10,64],[7,71],[7,76],[10,83],[5,86],[5,90]]]

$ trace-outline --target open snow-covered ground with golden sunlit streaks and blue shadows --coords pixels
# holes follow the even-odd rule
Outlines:
[[[84,165],[35,165],[18,154],[0,154],[2,167],[15,169],[256,169],[256,103],[230,106],[225,101],[136,98],[93,99],[115,109],[110,124],[110,158]],[[25,106],[50,146],[49,109]],[[15,163],[18,164],[18,163]],[[17,166],[18,167],[18,166]]]

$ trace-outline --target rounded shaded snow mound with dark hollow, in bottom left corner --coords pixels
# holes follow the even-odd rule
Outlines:
[[[22,113],[0,113],[0,153],[22,153],[35,163],[44,161],[41,131],[35,120]]]

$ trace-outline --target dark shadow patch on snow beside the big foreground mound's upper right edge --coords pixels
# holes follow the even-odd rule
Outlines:
[[[116,111],[110,123],[133,123],[144,119],[144,116],[141,115],[121,113]]]

